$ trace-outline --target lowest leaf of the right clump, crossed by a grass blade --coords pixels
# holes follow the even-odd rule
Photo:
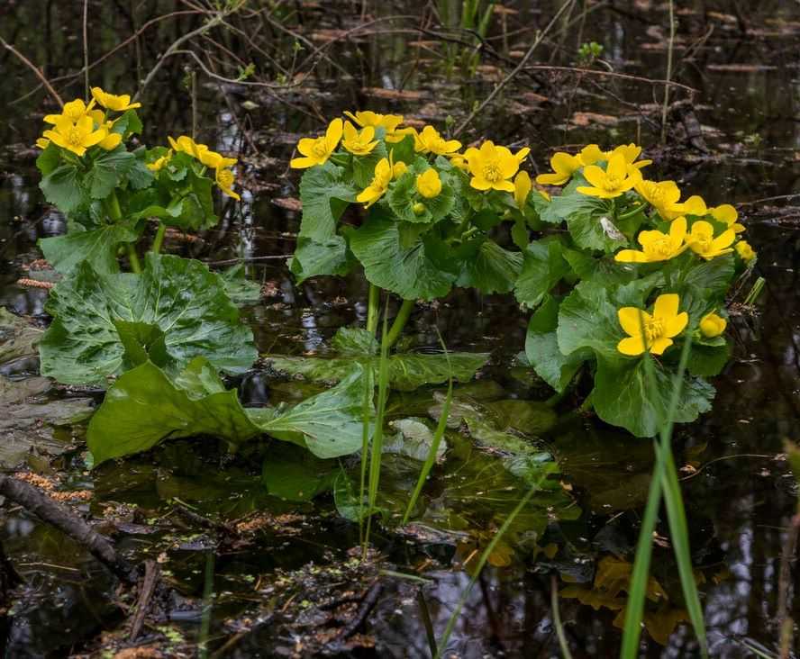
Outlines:
[[[637,437],[654,437],[667,419],[675,375],[659,364],[653,365],[653,390],[645,372],[645,358],[597,357],[592,403],[606,423],[621,426]],[[673,420],[694,421],[711,410],[714,387],[700,378],[686,377]]]

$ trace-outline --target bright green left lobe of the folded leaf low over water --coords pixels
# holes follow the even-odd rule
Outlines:
[[[202,369],[197,357],[189,367]],[[190,395],[151,362],[124,373],[89,422],[86,443],[95,465],[149,450],[164,438],[213,435],[238,443],[259,435],[236,391]]]

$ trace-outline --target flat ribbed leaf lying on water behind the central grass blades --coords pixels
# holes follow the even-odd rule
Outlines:
[[[371,367],[377,376],[377,343],[367,330],[342,328],[333,338],[332,348],[337,357],[266,357],[277,371],[318,382],[338,382],[350,373],[354,359],[364,367]],[[388,358],[389,384],[400,391],[414,391],[423,384],[441,384],[450,377],[450,368],[456,382],[468,382],[486,364],[487,358],[486,353],[450,353],[448,361],[444,354],[395,353]]]

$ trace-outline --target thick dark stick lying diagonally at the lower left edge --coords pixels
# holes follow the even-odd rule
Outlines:
[[[85,546],[123,582],[136,583],[136,572],[132,565],[116,553],[107,538],[97,533],[66,506],[53,501],[33,485],[3,474],[0,474],[0,494]]]

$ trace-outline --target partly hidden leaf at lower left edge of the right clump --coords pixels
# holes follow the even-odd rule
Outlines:
[[[593,355],[586,348],[578,348],[569,355],[564,355],[559,350],[559,339],[556,335],[558,322],[559,302],[548,295],[528,324],[525,355],[541,379],[561,393],[580,366]]]

